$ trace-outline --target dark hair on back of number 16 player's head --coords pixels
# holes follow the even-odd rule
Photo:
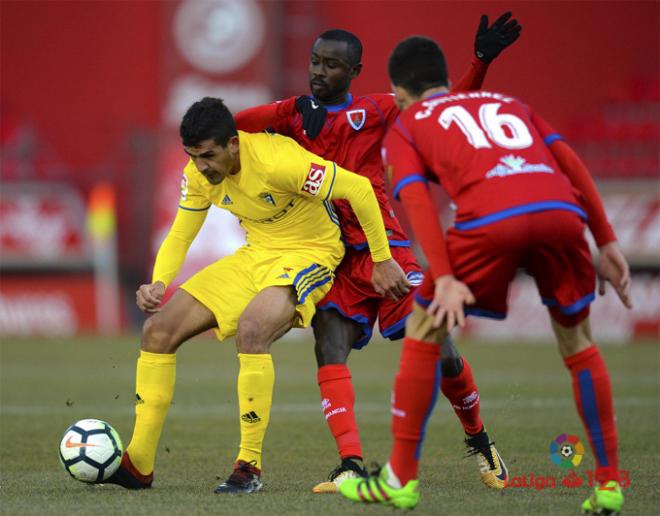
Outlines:
[[[387,65],[394,86],[412,95],[430,88],[447,86],[447,63],[438,44],[423,36],[411,36],[392,51]]]

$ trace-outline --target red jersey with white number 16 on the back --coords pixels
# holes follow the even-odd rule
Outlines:
[[[458,230],[548,209],[586,219],[534,114],[506,95],[441,93],[414,104],[388,133],[384,157],[397,198],[410,183],[440,183],[456,207]]]

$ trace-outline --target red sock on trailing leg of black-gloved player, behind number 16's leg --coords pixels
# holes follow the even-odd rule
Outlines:
[[[462,360],[463,370],[451,378],[443,376],[440,389],[454,407],[465,433],[475,435],[484,427],[480,414],[479,391],[474,383],[470,364],[466,358],[463,357]]]

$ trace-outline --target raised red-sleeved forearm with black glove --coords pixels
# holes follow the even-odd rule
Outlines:
[[[452,91],[478,90],[484,83],[488,65],[519,37],[522,25],[511,18],[511,12],[500,16],[488,26],[488,16],[481,16],[474,37],[474,59],[468,71],[452,87]]]

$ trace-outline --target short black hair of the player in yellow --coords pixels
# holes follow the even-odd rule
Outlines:
[[[221,99],[204,97],[188,108],[183,115],[179,134],[185,147],[196,147],[204,140],[227,146],[229,138],[236,136],[236,122]]]

